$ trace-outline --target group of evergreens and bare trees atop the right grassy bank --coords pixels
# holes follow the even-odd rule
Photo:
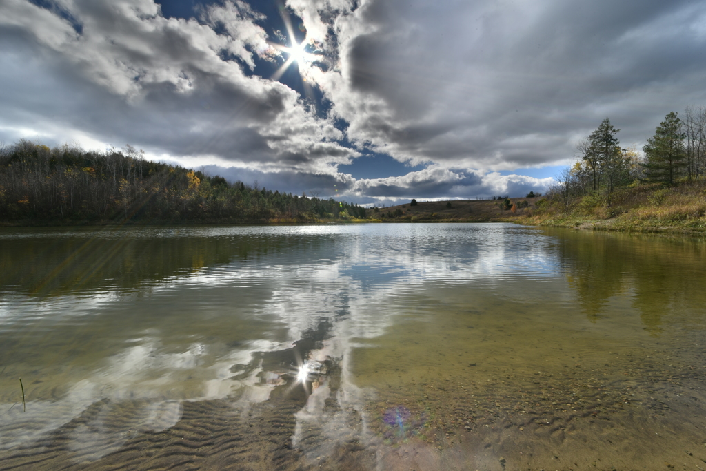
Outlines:
[[[609,118],[576,146],[578,161],[559,176],[553,195],[568,202],[588,192],[600,192],[608,204],[620,186],[636,180],[674,185],[679,179],[704,178],[706,172],[706,107],[689,107],[684,119],[671,111],[642,147],[621,147]]]

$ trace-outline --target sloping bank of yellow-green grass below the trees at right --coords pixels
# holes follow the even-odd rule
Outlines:
[[[542,198],[515,221],[621,232],[706,233],[706,182],[638,183],[611,195]]]

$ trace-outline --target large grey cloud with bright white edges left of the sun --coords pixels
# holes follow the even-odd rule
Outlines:
[[[260,16],[246,4],[211,6],[202,22],[164,18],[152,0],[73,0],[60,6],[80,33],[66,14],[28,1],[0,6],[1,27],[15,33],[22,49],[2,57],[19,69],[4,76],[16,97],[4,103],[8,114],[62,114],[67,134],[80,129],[155,153],[217,155],[262,169],[319,171],[357,156],[337,143],[340,130],[306,109],[299,94],[246,73],[256,54],[263,59],[276,54],[256,23]],[[227,34],[217,34],[217,25]],[[18,67],[25,56],[41,59]],[[45,93],[41,104],[29,99],[20,76],[35,74],[51,77],[46,85],[53,94]]]

